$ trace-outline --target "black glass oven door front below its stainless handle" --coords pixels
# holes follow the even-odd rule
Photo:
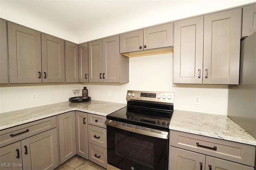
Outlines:
[[[168,139],[107,125],[108,164],[122,170],[167,170]]]

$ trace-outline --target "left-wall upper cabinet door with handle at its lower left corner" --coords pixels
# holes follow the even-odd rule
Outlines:
[[[64,40],[42,33],[42,82],[64,81]]]

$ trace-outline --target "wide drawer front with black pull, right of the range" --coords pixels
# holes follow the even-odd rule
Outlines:
[[[255,146],[170,130],[170,145],[254,166]]]

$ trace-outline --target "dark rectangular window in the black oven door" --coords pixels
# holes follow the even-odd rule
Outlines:
[[[154,168],[154,143],[116,133],[116,154]],[[132,149],[131,149],[132,148]]]

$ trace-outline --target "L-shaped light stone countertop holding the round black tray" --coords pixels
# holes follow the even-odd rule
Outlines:
[[[126,107],[123,103],[91,100],[82,103],[62,102],[39,107],[32,107],[17,111],[0,113],[0,130],[22,125],[32,121],[44,119],[69,111],[82,111],[96,115],[106,116],[114,111]]]

